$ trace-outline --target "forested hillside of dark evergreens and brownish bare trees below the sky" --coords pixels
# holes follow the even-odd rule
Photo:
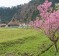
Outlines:
[[[55,3],[59,0],[49,0]],[[38,16],[37,6],[43,3],[44,0],[31,0],[27,4],[14,6],[12,8],[0,7],[0,22],[8,23],[12,18],[18,19],[21,22],[34,20]]]

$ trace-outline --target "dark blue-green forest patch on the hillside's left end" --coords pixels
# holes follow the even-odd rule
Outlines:
[[[0,7],[0,19],[3,23],[8,23],[20,7]]]

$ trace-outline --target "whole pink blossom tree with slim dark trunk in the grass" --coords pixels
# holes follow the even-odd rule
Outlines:
[[[51,5],[51,2],[45,0],[43,4],[37,7],[43,19],[39,20],[36,18],[34,24],[44,31],[48,38],[54,43],[56,52],[58,52],[57,42],[59,36],[57,36],[57,33],[59,31],[59,11],[53,10]]]

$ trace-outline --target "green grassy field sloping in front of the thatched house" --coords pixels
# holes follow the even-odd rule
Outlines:
[[[54,46],[41,54],[50,44],[52,42],[42,31],[0,28],[0,56],[55,56]]]

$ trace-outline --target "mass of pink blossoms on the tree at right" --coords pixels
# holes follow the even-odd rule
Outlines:
[[[53,31],[59,27],[59,11],[52,11],[51,5],[52,3],[48,2],[48,0],[45,0],[42,5],[39,5],[37,9],[41,12],[40,16],[44,20],[36,18],[34,22],[35,27],[44,29],[47,35],[49,30]]]

